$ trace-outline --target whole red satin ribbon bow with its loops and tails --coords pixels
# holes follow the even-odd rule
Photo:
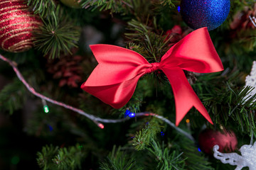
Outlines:
[[[139,78],[161,69],[174,91],[176,125],[193,106],[213,124],[182,70],[200,73],[223,70],[207,28],[186,35],[161,57],[161,62],[151,64],[142,55],[123,47],[90,45],[90,48],[99,64],[82,84],[83,90],[114,108],[122,108],[132,98]]]

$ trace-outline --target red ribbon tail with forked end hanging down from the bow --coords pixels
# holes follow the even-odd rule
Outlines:
[[[193,91],[191,85],[188,83],[183,70],[179,67],[162,68],[164,74],[170,81],[171,87],[174,91],[175,106],[176,106],[176,126],[181,122],[186,113],[194,106],[211,124],[213,121],[206,111],[206,108],[201,103],[200,99]]]

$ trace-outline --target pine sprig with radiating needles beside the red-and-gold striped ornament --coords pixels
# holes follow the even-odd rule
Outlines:
[[[41,50],[43,54],[50,58],[60,57],[60,52],[64,54],[72,52],[72,47],[78,47],[77,43],[80,36],[79,28],[72,23],[65,21],[63,11],[57,6],[55,11],[51,11],[49,18],[43,19],[44,26],[41,32],[35,33],[36,49]]]

